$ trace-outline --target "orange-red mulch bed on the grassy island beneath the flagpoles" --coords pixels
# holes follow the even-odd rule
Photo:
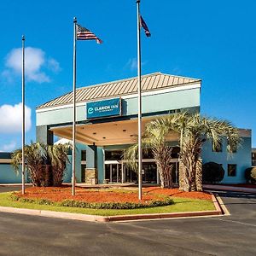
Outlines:
[[[124,191],[124,192],[122,192]],[[143,201],[137,199],[137,190],[121,190],[118,189],[85,189],[77,188],[76,195],[72,195],[72,189],[67,186],[62,187],[31,187],[26,189],[26,194],[21,195],[20,192],[16,193],[21,198],[29,199],[48,199],[49,201],[86,201],[86,202],[147,202],[159,201],[165,196],[183,197],[201,200],[212,200],[212,196],[205,192],[181,192],[178,189],[160,189],[149,187],[143,189]]]

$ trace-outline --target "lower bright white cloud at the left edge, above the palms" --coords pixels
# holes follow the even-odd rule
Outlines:
[[[31,108],[25,106],[26,131],[32,126]],[[0,106],[0,133],[21,132],[22,104]]]

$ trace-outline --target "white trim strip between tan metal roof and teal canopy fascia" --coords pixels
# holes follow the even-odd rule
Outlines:
[[[164,93],[168,93],[168,92],[172,92],[172,91],[180,91],[180,90],[192,90],[192,89],[197,89],[197,88],[201,88],[201,83],[196,83],[196,84],[187,84],[187,85],[177,85],[175,87],[172,88],[166,88],[166,89],[160,89],[160,90],[150,90],[150,91],[144,91],[142,92],[142,96],[154,96],[157,94],[164,94]],[[112,98],[114,97],[120,97],[121,99],[130,99],[130,98],[137,98],[137,93],[131,94],[131,95],[126,95],[126,96],[112,96]],[[102,100],[107,100],[111,97],[108,98],[98,98],[98,99],[92,99],[86,102],[96,102],[96,101],[102,101]],[[77,103],[77,107],[85,107],[86,102],[79,102]],[[63,109],[63,108],[72,108],[73,104],[65,104],[65,105],[61,105],[61,106],[50,106],[50,107],[46,107],[46,108],[39,108],[36,109],[36,113],[43,113],[43,112],[48,112],[48,111],[52,111],[52,110],[57,110],[57,109]]]

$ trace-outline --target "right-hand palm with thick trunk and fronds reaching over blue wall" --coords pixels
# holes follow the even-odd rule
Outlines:
[[[227,151],[232,154],[240,146],[241,138],[236,127],[227,120],[212,119],[200,113],[177,113],[161,119],[161,124],[180,134],[180,188],[184,191],[201,190],[201,178],[196,180],[201,148],[206,139],[217,149],[227,140]],[[201,170],[200,173],[201,175]],[[200,188],[200,189],[199,189]]]

